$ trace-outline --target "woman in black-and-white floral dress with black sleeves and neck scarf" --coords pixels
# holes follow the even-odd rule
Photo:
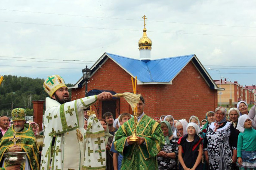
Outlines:
[[[225,113],[224,107],[215,109],[215,122],[209,124],[204,138],[204,155],[210,170],[230,170],[231,163],[237,160],[235,129],[226,121]]]

